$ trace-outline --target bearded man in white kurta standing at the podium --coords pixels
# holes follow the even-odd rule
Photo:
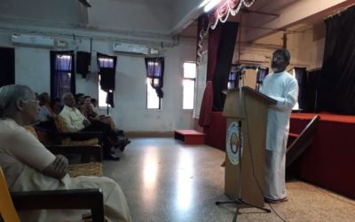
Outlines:
[[[274,73],[266,75],[261,89],[262,93],[277,100],[277,104],[268,110],[265,152],[264,197],[266,202],[273,203],[287,201],[285,163],[289,117],[298,96],[296,78],[285,71],[289,59],[287,50],[273,52]]]

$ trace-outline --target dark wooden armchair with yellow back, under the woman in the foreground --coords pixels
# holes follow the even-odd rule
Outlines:
[[[58,209],[91,210],[92,221],[105,221],[103,194],[100,189],[26,191],[10,194],[0,167],[0,196],[0,214],[5,222],[20,222],[17,210]]]

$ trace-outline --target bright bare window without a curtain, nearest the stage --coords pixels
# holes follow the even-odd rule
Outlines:
[[[196,63],[184,63],[183,79],[183,109],[193,109],[194,104],[194,82],[196,79]]]

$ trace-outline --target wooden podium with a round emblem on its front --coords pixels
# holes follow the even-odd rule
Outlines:
[[[276,100],[248,86],[241,88],[241,99],[239,94],[239,89],[226,91],[223,109],[223,115],[227,118],[225,194],[232,200],[242,199],[263,207],[267,109],[269,105],[276,104]],[[241,143],[241,170],[239,143]]]

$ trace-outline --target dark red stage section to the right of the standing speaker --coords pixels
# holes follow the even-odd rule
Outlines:
[[[314,115],[293,113],[290,132],[301,132]],[[355,199],[355,116],[317,115],[312,146],[291,167],[305,181]]]

